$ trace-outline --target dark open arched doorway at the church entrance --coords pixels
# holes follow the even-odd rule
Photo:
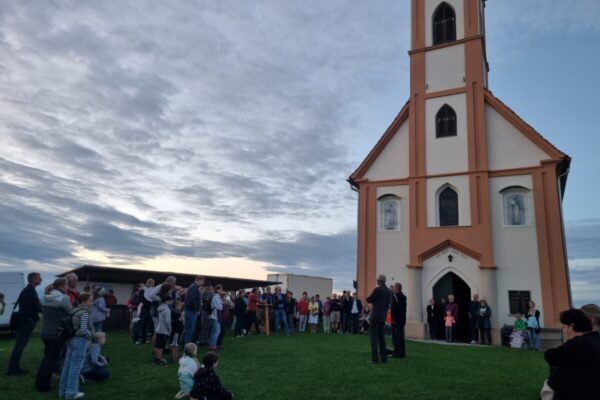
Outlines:
[[[465,281],[453,272],[442,276],[433,286],[433,297],[437,304],[442,298],[448,300],[448,295],[454,295],[454,302],[458,304],[458,318],[456,321],[456,340],[469,342],[469,301],[471,300],[471,288]]]

